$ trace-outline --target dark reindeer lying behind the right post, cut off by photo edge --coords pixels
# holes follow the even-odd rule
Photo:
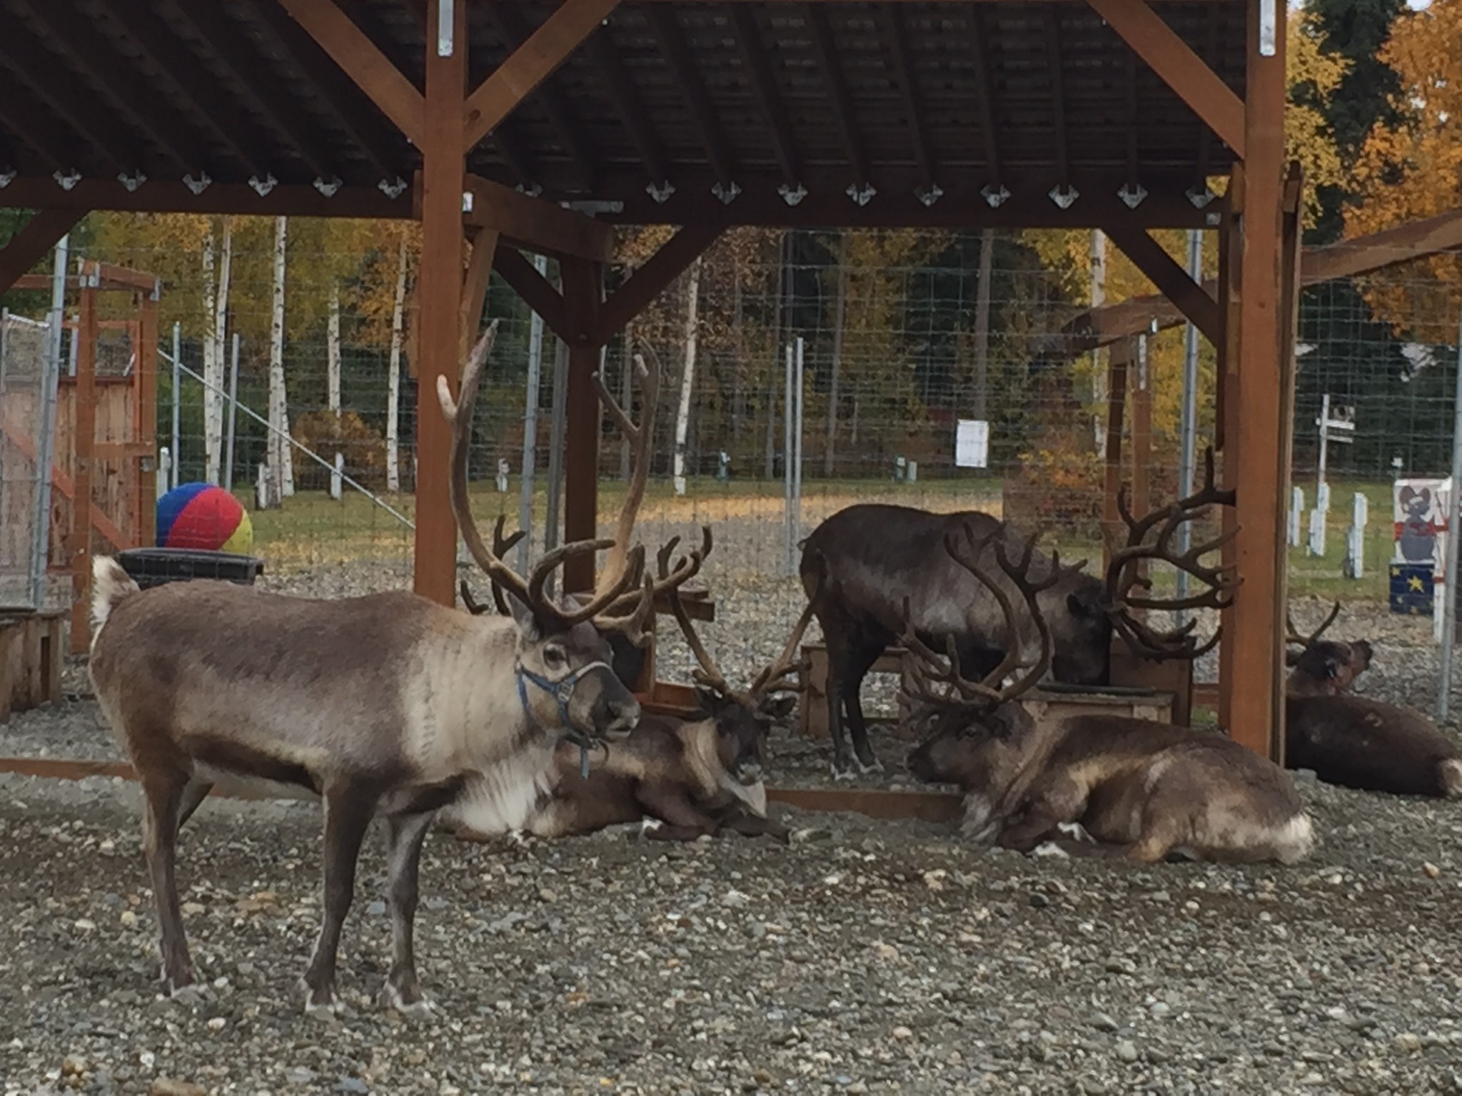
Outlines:
[[[1301,634],[1289,621],[1300,653],[1285,687],[1285,767],[1311,769],[1325,783],[1395,795],[1462,795],[1462,750],[1415,709],[1351,693],[1371,663],[1366,640],[1342,643]]]

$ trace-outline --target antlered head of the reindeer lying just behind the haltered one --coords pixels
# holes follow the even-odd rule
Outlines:
[[[703,528],[705,554],[711,552],[711,529]],[[674,551],[673,539],[659,549],[659,574],[668,574],[670,554]],[[667,592],[670,611],[680,624],[686,637],[686,644],[696,656],[699,668],[694,671],[696,696],[702,709],[713,720],[716,728],[716,753],[721,764],[740,783],[753,785],[762,779],[766,758],[766,735],[772,725],[787,716],[797,703],[800,682],[792,677],[800,669],[797,662],[797,647],[803,642],[803,634],[811,623],[813,609],[808,601],[803,615],[798,617],[791,637],[782,646],[782,653],[757,674],[749,690],[732,688],[725,675],[716,666],[706,644],[696,634],[696,627],[690,620],[690,612],[680,596],[680,590],[671,587]]]

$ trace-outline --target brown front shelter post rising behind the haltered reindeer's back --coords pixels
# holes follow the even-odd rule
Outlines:
[[[453,392],[462,371],[459,311],[462,307],[462,111],[466,101],[466,4],[455,18],[450,56],[437,51],[440,4],[427,4],[427,95],[421,148],[421,316],[417,324],[417,536],[412,589],[442,605],[456,602],[458,529],[452,516],[447,471],[452,431],[437,402],[437,377]]]

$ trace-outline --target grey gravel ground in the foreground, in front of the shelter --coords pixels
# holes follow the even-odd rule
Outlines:
[[[1462,1092],[1462,814],[1303,783],[1311,864],[978,853],[944,826],[785,811],[791,846],[436,834],[424,1024],[373,837],[341,951],[294,983],[319,815],[213,801],[183,837],[197,1011],[156,995],[133,785],[0,777],[0,1077],[51,1093]],[[189,1089],[167,1081],[200,1086]]]

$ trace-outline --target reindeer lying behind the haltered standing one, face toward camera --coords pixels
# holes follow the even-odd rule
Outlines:
[[[677,541],[659,551],[662,580],[673,574],[668,560]],[[711,554],[711,529],[705,528],[700,560]],[[496,586],[493,595],[497,596]],[[485,609],[469,593],[463,599],[474,612]],[[788,839],[788,830],[768,818],[763,742],[769,725],[791,710],[794,699],[775,694],[797,688],[789,675],[811,609],[803,612],[776,661],[749,690],[738,691],[696,634],[680,592],[671,589],[667,599],[700,663],[696,681],[702,713],[690,719],[642,715],[635,731],[605,750],[602,761],[588,772],[580,769],[576,750],[560,747],[553,786],[525,818],[509,826],[497,818],[474,818],[471,804],[462,802],[443,813],[459,837],[482,840],[503,833],[564,837],[646,820],[646,834],[658,840],[694,840],[721,830]]]

